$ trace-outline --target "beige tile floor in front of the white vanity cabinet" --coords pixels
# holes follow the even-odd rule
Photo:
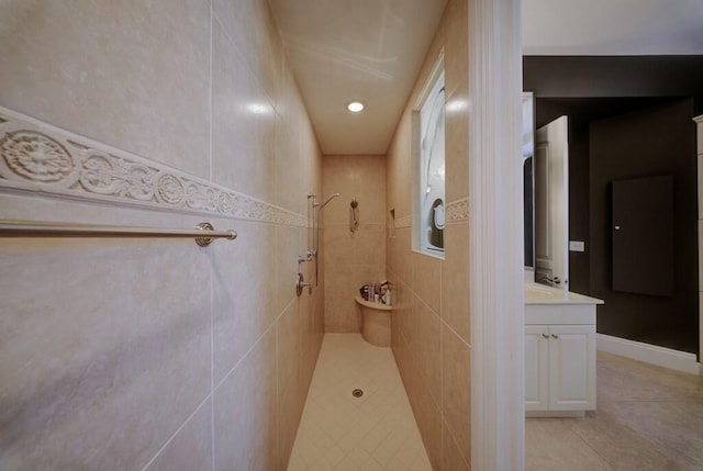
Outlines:
[[[703,377],[599,351],[598,411],[528,418],[526,469],[703,470]]]

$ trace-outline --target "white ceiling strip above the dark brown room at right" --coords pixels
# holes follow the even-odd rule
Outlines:
[[[523,0],[523,53],[703,54],[703,0]]]

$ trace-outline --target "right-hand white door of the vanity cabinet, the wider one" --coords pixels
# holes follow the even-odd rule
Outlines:
[[[549,408],[595,408],[595,326],[549,327]]]

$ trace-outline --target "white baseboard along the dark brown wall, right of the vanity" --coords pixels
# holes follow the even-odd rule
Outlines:
[[[596,335],[596,345],[599,350],[609,354],[683,371],[684,373],[703,375],[703,365],[696,361],[694,354],[643,344],[641,341],[627,340],[626,338],[613,337],[605,334]]]

